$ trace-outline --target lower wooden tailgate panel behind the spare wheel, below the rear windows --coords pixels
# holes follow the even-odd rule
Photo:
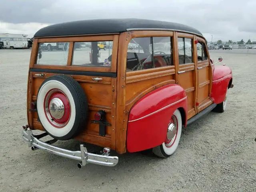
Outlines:
[[[56,74],[42,73],[44,74],[43,77],[37,77],[34,75],[36,72],[30,73],[33,78],[31,100],[36,101],[38,90],[42,82],[44,82],[46,78]],[[113,88],[113,86],[116,86],[116,78],[100,77],[102,78],[102,82],[96,82],[91,80],[93,78],[91,76],[71,76],[81,85],[84,92],[88,93],[86,94],[89,106],[88,122],[76,139],[115,149],[116,119],[112,118],[112,116],[116,116],[116,105],[112,103],[116,100],[116,90]],[[105,137],[99,136],[99,125],[91,123],[91,120],[94,120],[94,114],[98,112],[98,110],[104,110],[106,112],[106,121],[111,124],[111,126],[106,126]],[[34,129],[44,130],[40,122],[38,122],[36,112],[32,112],[30,118],[32,119],[32,127],[34,127]]]

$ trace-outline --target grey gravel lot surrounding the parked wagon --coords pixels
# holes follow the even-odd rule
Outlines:
[[[22,140],[30,50],[0,50],[0,191],[256,191],[256,50],[210,54],[233,70],[226,112],[210,112],[183,130],[170,158],[124,154],[116,167],[79,169]],[[79,143],[56,145],[76,150]]]

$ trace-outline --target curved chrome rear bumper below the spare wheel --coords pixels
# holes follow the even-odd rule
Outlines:
[[[27,126],[24,126],[24,130],[22,131],[22,138],[28,142],[28,146],[32,147],[32,150],[38,148],[56,154],[58,156],[80,161],[80,163],[78,163],[79,168],[85,166],[87,163],[104,166],[115,166],[118,163],[117,156],[108,156],[108,154],[98,155],[88,153],[84,145],[80,145],[80,151],[70,151],[58,148],[46,142],[42,142],[32,134],[32,130],[30,130],[30,128],[28,128]]]

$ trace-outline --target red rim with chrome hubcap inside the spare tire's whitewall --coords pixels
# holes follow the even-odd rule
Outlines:
[[[70,103],[67,96],[58,89],[50,90],[44,99],[45,115],[54,127],[64,127],[70,119]]]

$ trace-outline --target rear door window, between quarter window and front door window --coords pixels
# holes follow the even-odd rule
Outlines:
[[[178,38],[179,64],[193,62],[192,39]]]

